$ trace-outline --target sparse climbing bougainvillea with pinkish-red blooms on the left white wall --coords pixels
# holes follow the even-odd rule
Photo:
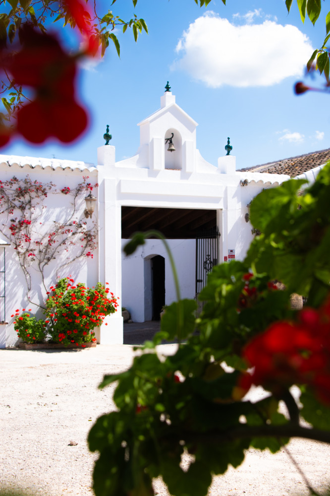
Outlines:
[[[33,273],[39,273],[46,293],[44,271],[54,259],[56,270],[60,271],[81,256],[92,258],[92,251],[97,246],[96,224],[94,221],[87,224],[77,206],[82,195],[98,186],[92,185],[88,179],[85,176],[76,187],[60,190],[71,200],[67,214],[61,216],[63,220],[50,219],[47,215],[46,198],[51,193],[61,194],[51,181],[42,183],[29,176],[22,180],[12,177],[0,181],[0,214],[3,219],[0,232],[16,251],[30,302]]]

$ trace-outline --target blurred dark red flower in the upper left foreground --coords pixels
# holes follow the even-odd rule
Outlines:
[[[87,114],[75,100],[76,59],[62,50],[55,35],[30,24],[20,29],[20,43],[4,66],[16,84],[35,90],[35,99],[17,111],[17,131],[32,143],[49,137],[73,141],[87,127]]]

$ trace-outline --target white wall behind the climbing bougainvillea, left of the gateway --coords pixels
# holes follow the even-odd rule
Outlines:
[[[23,161],[23,164],[24,162],[29,164],[32,160]],[[57,191],[65,186],[73,189],[77,184],[83,181],[83,176],[89,176],[88,182],[92,184],[97,183],[96,170],[88,171],[86,168],[84,168],[83,171],[78,168],[74,170],[68,168],[63,170],[61,167],[52,170],[51,167],[43,168],[41,166],[36,166],[35,168],[31,168],[29,165],[22,167],[22,161],[21,165],[15,164],[14,162],[10,167],[7,163],[1,163],[2,182],[11,179],[13,176],[18,180],[24,179],[27,175],[31,180],[37,180],[42,184],[52,181],[56,186]],[[95,195],[98,194],[95,189],[93,190],[93,193]],[[79,195],[77,210],[72,220],[83,219],[83,221],[87,222],[87,227],[92,227],[93,221],[96,222],[96,224],[98,222],[97,209],[93,214],[92,220],[85,218],[84,209],[86,203],[84,198],[86,194],[86,192],[82,192]],[[38,228],[39,233],[52,231],[54,229],[54,221],[60,222],[61,220],[65,221],[65,219],[67,219],[68,212],[72,213],[72,205],[70,205],[71,199],[70,195],[65,195],[61,192],[57,192],[56,194],[52,191],[48,192],[43,205],[46,208],[38,210],[37,213],[39,217],[36,229]],[[40,205],[40,207],[41,206],[42,205]],[[6,215],[0,215],[0,224],[6,223],[8,223]],[[4,239],[2,235],[1,238]],[[75,246],[67,246],[66,248],[67,251],[63,249],[61,253],[45,267],[44,276],[46,288],[54,285],[57,278],[69,275],[75,282],[83,282],[87,284],[87,286],[95,285],[98,282],[98,251],[93,251],[93,258],[82,256],[72,264],[71,260],[74,258],[77,248]],[[2,248],[0,249],[2,250]],[[13,346],[17,342],[17,336],[13,325],[15,318],[11,317],[11,315],[15,313],[15,310],[32,309],[32,313],[36,314],[38,317],[42,317],[43,313],[40,310],[39,305],[43,306],[46,297],[40,273],[32,269],[32,289],[29,292],[29,298],[33,303],[28,301],[26,296],[26,280],[19,265],[16,251],[12,246],[5,247],[5,262],[5,320],[8,324],[0,325],[1,348]],[[63,264],[65,264],[65,267],[61,267]]]

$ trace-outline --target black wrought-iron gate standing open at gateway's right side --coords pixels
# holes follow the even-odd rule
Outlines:
[[[196,297],[207,283],[208,273],[219,263],[219,230],[196,238]]]

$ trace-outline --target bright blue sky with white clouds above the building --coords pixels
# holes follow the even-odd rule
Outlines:
[[[118,30],[120,59],[110,45],[101,62],[81,68],[87,132],[69,146],[15,141],[1,153],[96,164],[110,124],[116,160],[130,157],[139,146],[136,124],[159,109],[167,80],[176,103],[199,124],[198,149],[215,165],[227,136],[237,168],[329,148],[329,96],[293,93],[301,79],[323,84],[320,77],[306,79],[304,66],[324,40],[327,9],[313,27],[309,19],[302,24],[294,4],[287,15],[284,0],[226,3],[212,0],[200,8],[194,0],[138,0],[135,13],[146,20],[149,35],[142,33],[135,44],[129,30]],[[102,0],[100,10],[108,8]],[[117,0],[112,11],[129,19],[132,1]]]

